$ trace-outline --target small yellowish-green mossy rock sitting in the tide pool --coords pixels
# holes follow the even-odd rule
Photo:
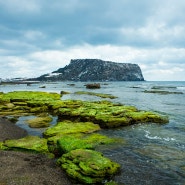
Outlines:
[[[52,121],[52,117],[44,116],[44,117],[36,117],[33,119],[29,119],[26,122],[31,128],[45,128],[50,126],[50,122]]]

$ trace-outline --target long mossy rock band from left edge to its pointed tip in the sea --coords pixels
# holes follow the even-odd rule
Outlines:
[[[93,122],[102,128],[114,128],[135,123],[167,123],[168,119],[151,112],[139,111],[133,106],[109,101],[88,102],[60,100],[60,94],[15,91],[1,94],[0,115],[38,114],[49,112],[59,120]],[[3,102],[3,103],[2,103]]]

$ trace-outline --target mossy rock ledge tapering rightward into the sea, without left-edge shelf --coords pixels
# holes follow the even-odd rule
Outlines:
[[[168,119],[154,112],[140,111],[133,106],[113,104],[108,101],[63,101],[58,109],[59,119],[92,121],[102,128],[114,128],[135,123],[167,123]]]

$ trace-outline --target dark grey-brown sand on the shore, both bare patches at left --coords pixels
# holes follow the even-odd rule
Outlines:
[[[0,141],[25,137],[27,132],[0,117]],[[42,154],[0,150],[0,185],[72,185],[65,172]]]

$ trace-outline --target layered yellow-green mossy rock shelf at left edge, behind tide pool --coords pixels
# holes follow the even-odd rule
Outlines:
[[[21,115],[49,112],[48,106],[60,100],[60,94],[33,91],[14,91],[1,94],[0,115]]]

